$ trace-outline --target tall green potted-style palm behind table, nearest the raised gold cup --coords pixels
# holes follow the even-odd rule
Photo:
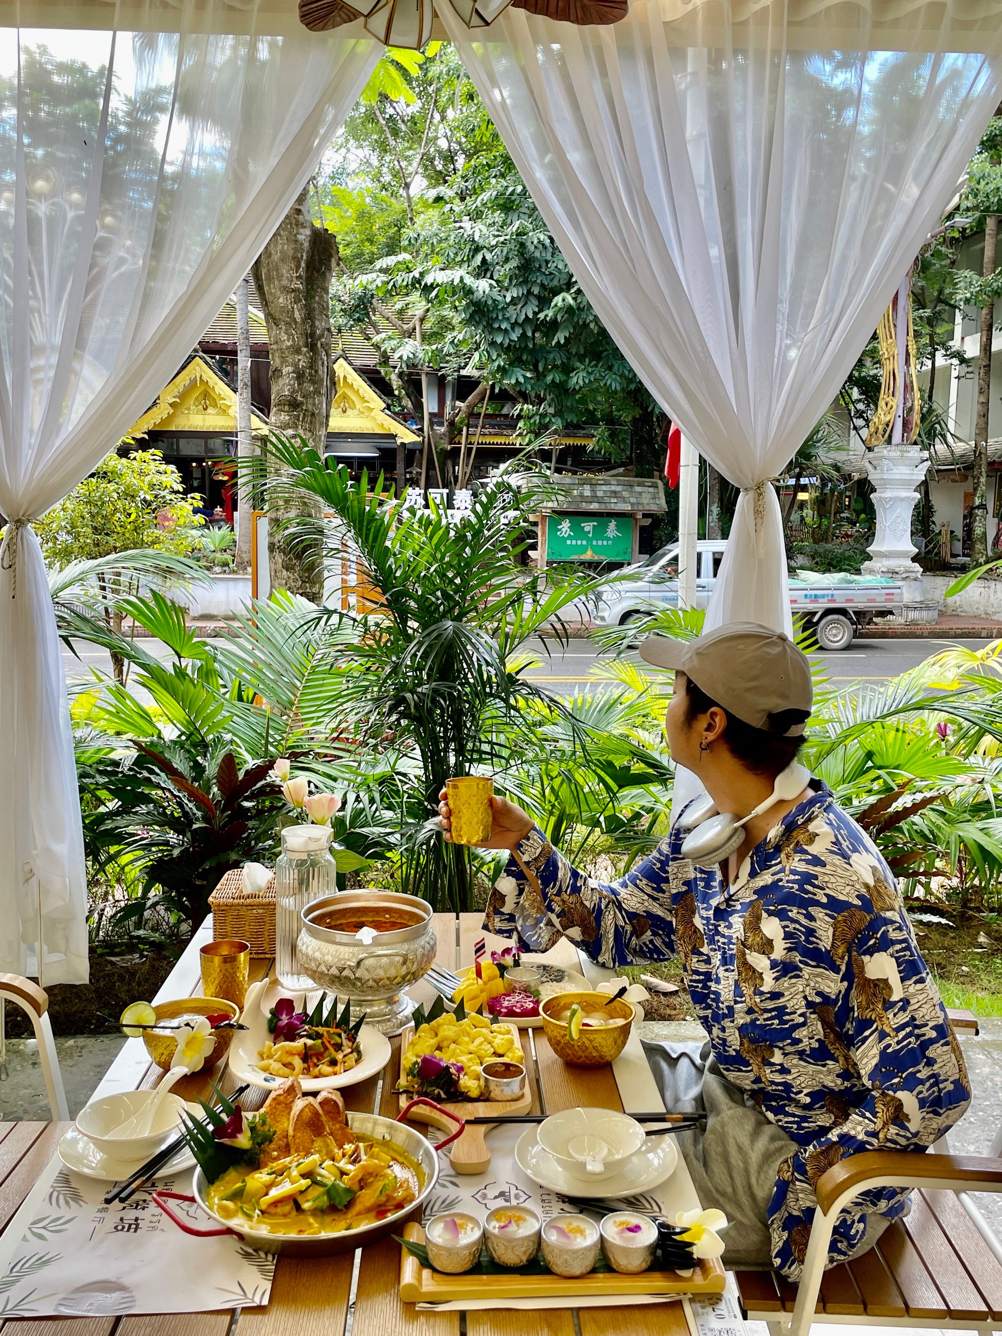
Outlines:
[[[524,669],[526,641],[548,629],[560,635],[560,613],[599,584],[574,574],[554,580],[526,568],[532,516],[549,485],[502,470],[450,518],[409,509],[379,477],[370,490],[347,469],[301,438],[273,434],[263,445],[278,472],[258,481],[269,509],[283,516],[291,544],[358,560],[374,591],[354,611],[323,609],[326,671],[337,684],[345,733],[362,745],[391,743],[415,768],[417,784],[401,792],[406,886],[433,904],[470,906],[474,863],[469,850],[445,843],[429,822],[446,779],[501,772],[518,748],[536,743],[533,709],[573,716]],[[317,510],[325,518],[315,518]],[[581,747],[587,731],[578,729]]]

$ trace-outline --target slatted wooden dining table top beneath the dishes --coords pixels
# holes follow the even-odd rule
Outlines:
[[[482,937],[478,914],[437,914],[437,961],[454,969],[457,961],[473,959],[473,943]],[[158,1002],[178,997],[200,995],[199,947],[211,941],[211,922],[192,939],[182,959],[158,994]],[[490,942],[490,938],[488,939]],[[546,959],[572,969],[580,969],[573,946],[562,941]],[[253,961],[253,978],[263,978],[267,962]],[[411,990],[424,1002],[434,997],[422,983]],[[541,1038],[526,1049],[526,1059],[534,1066],[533,1082],[536,1112],[554,1112],[574,1105],[621,1109],[623,1101],[616,1078],[609,1067],[576,1071],[552,1053]],[[632,1041],[633,1042],[633,1041]],[[343,1090],[349,1109],[387,1118],[398,1113],[398,1097],[393,1093],[399,1069],[399,1039],[391,1041],[393,1057],[382,1077],[371,1077]],[[639,1047],[639,1041],[636,1042]],[[631,1071],[643,1081],[636,1065],[636,1049],[624,1055],[627,1079]],[[623,1062],[623,1059],[620,1059]],[[647,1070],[643,1061],[640,1062]],[[216,1079],[220,1070],[214,1074]],[[128,1039],[99,1085],[96,1094],[116,1090],[135,1090],[156,1085],[159,1069],[151,1066],[142,1039]],[[621,1077],[623,1079],[623,1077]],[[222,1082],[227,1089],[227,1082]],[[625,1081],[624,1081],[625,1086]],[[232,1085],[228,1086],[232,1089]],[[641,1088],[643,1089],[643,1088]],[[175,1086],[178,1094],[194,1098],[208,1092],[208,1074],[186,1077]],[[248,1092],[250,1094],[250,1092]],[[261,1093],[262,1098],[265,1092]],[[641,1097],[647,1097],[647,1092]],[[246,1100],[243,1101],[247,1102]],[[653,1109],[660,1104],[652,1105]],[[636,1104],[633,1110],[639,1112]],[[55,1153],[65,1124],[16,1122],[0,1125],[0,1230],[7,1228],[49,1157]],[[684,1164],[672,1176],[675,1209],[697,1205]],[[358,1272],[355,1273],[355,1260]],[[549,1309],[541,1312],[496,1311],[469,1313],[417,1312],[398,1296],[399,1244],[391,1238],[346,1253],[339,1257],[293,1259],[279,1257],[267,1308],[244,1308],[234,1312],[178,1313],[171,1316],[134,1317],[63,1317],[12,1319],[3,1324],[5,1336],[343,1336],[349,1305],[354,1304],[351,1336],[460,1336],[461,1317],[466,1336],[693,1336],[683,1304],[629,1305],[623,1308]]]

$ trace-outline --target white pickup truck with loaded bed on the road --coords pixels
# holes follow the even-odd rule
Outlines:
[[[717,538],[696,544],[696,607],[705,608],[713,591],[725,542]],[[679,604],[679,544],[652,553],[620,573],[603,591],[597,604],[581,608],[593,627],[621,627],[660,608]],[[790,607],[810,627],[822,649],[848,649],[859,627],[876,617],[892,617],[904,603],[904,593],[892,580],[860,576],[811,574],[810,580],[790,581]]]

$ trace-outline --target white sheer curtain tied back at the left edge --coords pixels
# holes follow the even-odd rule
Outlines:
[[[73,29],[52,23],[73,23]],[[226,0],[0,5],[0,970],[87,978],[60,645],[29,521],[148,406],[379,45]],[[29,28],[28,23],[40,27]],[[127,28],[132,24],[132,28]]]

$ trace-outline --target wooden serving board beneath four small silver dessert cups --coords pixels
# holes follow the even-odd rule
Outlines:
[[[425,1241],[421,1225],[405,1225],[403,1237],[415,1244]],[[719,1257],[696,1264],[691,1276],[677,1271],[641,1271],[623,1276],[617,1271],[593,1271],[588,1276],[565,1279],[546,1272],[542,1276],[520,1276],[517,1272],[496,1276],[445,1276],[401,1248],[399,1296],[409,1304],[444,1304],[464,1299],[566,1299],[573,1308],[581,1299],[608,1299],[612,1295],[721,1295],[727,1279]]]

